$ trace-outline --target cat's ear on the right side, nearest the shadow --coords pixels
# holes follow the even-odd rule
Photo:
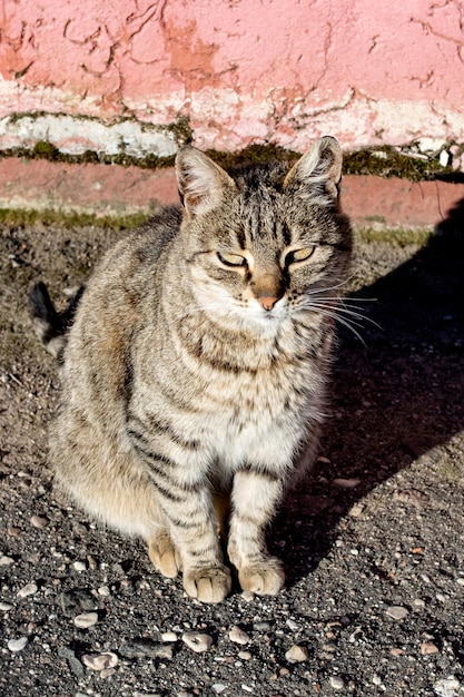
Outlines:
[[[294,165],[284,180],[284,189],[303,198],[330,204],[338,198],[342,179],[342,148],[336,138],[324,136]]]

